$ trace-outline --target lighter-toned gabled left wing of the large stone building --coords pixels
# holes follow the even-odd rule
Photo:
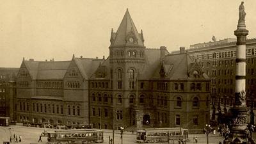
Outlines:
[[[102,59],[23,60],[17,74],[17,120],[89,124],[88,78]]]

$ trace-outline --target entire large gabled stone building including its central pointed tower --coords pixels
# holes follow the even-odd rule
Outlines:
[[[23,60],[17,76],[19,122],[92,127],[203,129],[209,123],[210,82],[180,49],[147,49],[129,11],[110,36],[109,57]]]

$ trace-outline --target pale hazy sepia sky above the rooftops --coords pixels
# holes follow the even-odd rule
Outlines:
[[[20,67],[26,60],[108,57],[111,28],[129,8],[145,46],[179,50],[236,38],[238,0],[1,0],[0,67]],[[248,38],[256,36],[256,1],[245,0]]]

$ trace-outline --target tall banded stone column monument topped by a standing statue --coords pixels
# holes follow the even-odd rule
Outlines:
[[[246,91],[245,91],[245,76],[246,76],[246,30],[244,17],[244,2],[239,6],[239,20],[237,29],[234,31],[237,37],[236,48],[236,93],[235,103],[230,109],[232,113],[232,122],[230,122],[230,134],[225,138],[223,143],[239,144],[248,143],[247,127],[247,108],[246,108]]]

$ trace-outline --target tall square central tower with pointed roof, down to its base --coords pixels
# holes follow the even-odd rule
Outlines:
[[[109,65],[111,67],[111,81],[114,113],[122,112],[124,116],[131,116],[133,105],[138,97],[137,84],[140,71],[145,65],[145,46],[143,32],[138,33],[128,9],[116,32],[111,31],[109,46]],[[134,102],[129,98],[134,97]],[[131,125],[131,118],[114,118],[116,127]],[[120,124],[118,124],[120,123]]]

